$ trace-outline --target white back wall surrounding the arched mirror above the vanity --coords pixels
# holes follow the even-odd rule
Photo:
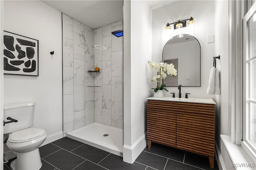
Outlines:
[[[207,36],[214,35],[214,1],[178,1],[172,4],[152,10],[152,61],[162,61],[162,50],[165,43],[172,36],[165,36],[167,22],[176,22],[194,17],[194,36],[201,45],[201,87],[182,87],[182,97],[185,93],[191,93],[189,97],[212,98],[214,95],[206,94],[210,69],[213,67],[214,43],[207,43]],[[218,62],[218,61],[217,61]],[[152,83],[155,87],[155,83]],[[178,87],[167,87],[169,92],[164,91],[165,96],[170,93],[178,94]],[[153,91],[151,91],[153,95]]]

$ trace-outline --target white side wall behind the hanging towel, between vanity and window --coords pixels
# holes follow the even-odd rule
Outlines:
[[[216,67],[220,69],[221,95],[216,96],[216,142],[220,154],[230,168],[230,158],[222,143],[220,134],[228,135],[228,109],[229,109],[229,61],[228,61],[228,1],[215,2],[215,54],[220,55]],[[225,28],[225,29],[223,29]]]

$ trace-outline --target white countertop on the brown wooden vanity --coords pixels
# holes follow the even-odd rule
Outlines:
[[[148,100],[162,100],[162,101],[178,101],[178,102],[188,102],[188,103],[205,103],[205,104],[214,104],[216,103],[212,99],[203,99],[203,98],[192,98],[189,97],[185,99],[184,97],[148,97]]]

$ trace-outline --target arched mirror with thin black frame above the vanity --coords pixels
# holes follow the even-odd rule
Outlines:
[[[195,37],[171,38],[164,46],[163,62],[172,63],[178,73],[176,78],[167,75],[163,80],[166,86],[201,86],[201,47]]]

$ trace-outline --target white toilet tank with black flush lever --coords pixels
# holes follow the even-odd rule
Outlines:
[[[4,122],[10,121],[7,120],[7,117],[18,121],[5,124],[4,134],[32,127],[34,125],[35,105],[35,102],[4,104]]]

